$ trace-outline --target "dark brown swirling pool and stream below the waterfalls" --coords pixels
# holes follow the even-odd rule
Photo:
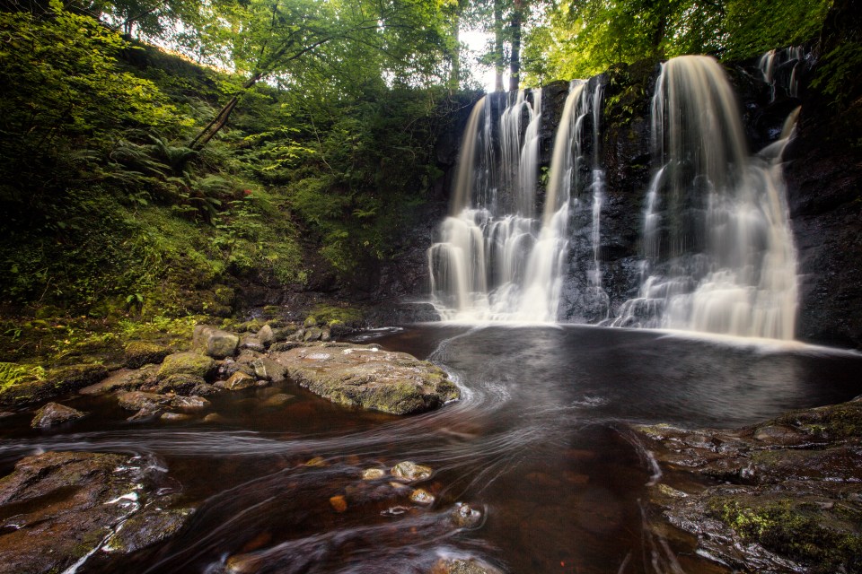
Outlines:
[[[377,342],[444,365],[464,399],[398,418],[287,385],[295,398],[277,408],[250,390],[215,398],[219,424],[166,425],[82,398],[70,404],[100,415],[67,431],[0,422],[0,470],[39,449],[148,453],[170,469],[176,504],[198,508],[189,527],[129,557],[97,553],[82,573],[429,572],[470,556],[508,572],[723,571],[645,533],[654,470],[625,423],[739,426],[862,392],[858,355],[799,346],[580,326],[416,326]],[[430,507],[360,478],[405,459],[435,469],[420,484]],[[483,519],[453,523],[457,502]]]

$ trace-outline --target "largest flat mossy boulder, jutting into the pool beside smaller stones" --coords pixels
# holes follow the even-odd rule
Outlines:
[[[338,404],[409,414],[460,397],[444,370],[374,345],[315,344],[271,356],[301,387]]]

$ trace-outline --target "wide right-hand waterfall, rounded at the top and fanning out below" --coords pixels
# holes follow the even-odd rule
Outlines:
[[[652,122],[642,283],[612,325],[792,339],[796,252],[778,163],[787,139],[748,157],[710,57],[664,64]]]

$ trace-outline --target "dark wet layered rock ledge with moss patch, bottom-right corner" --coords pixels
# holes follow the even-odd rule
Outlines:
[[[736,431],[633,431],[661,471],[654,535],[727,571],[862,572],[862,396]]]

